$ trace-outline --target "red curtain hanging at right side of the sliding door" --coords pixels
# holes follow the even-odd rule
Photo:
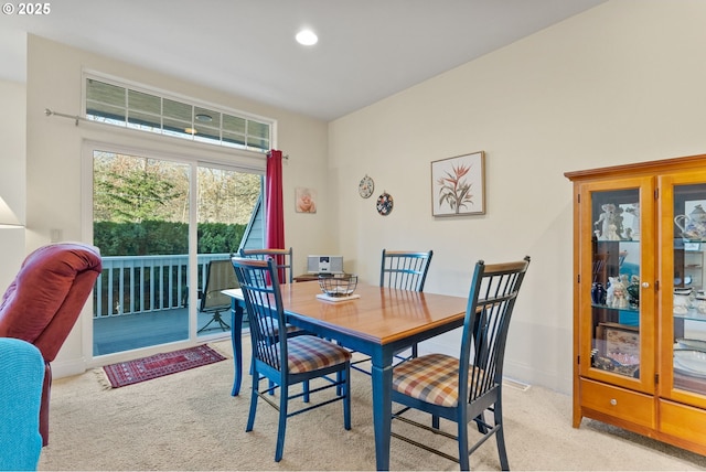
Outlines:
[[[265,174],[267,202],[265,219],[267,234],[265,247],[267,249],[285,249],[285,208],[282,206],[282,151],[272,149],[267,154],[267,172]],[[284,275],[279,275],[284,283]]]

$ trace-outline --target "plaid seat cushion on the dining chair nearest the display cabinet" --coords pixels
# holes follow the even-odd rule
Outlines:
[[[469,384],[472,368],[469,366]],[[459,360],[428,354],[403,362],[393,369],[393,389],[428,404],[453,407],[459,398]]]

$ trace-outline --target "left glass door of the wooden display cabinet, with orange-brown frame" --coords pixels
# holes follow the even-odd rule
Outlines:
[[[582,225],[590,232],[581,234],[590,237],[591,250],[581,280],[590,277],[590,283],[581,282],[581,307],[591,315],[584,318],[581,369],[650,391],[654,360],[645,353],[654,346],[654,243],[642,233],[654,225],[654,184],[635,178],[587,185]]]

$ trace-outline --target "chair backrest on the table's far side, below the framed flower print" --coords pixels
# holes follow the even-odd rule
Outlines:
[[[424,291],[434,251],[383,249],[379,286],[403,290]]]

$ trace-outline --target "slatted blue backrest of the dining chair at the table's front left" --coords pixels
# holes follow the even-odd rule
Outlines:
[[[274,277],[277,262],[244,257],[231,260],[248,313],[253,357],[274,371],[281,371],[287,366],[287,343],[271,342],[272,333],[287,332],[279,281]]]

